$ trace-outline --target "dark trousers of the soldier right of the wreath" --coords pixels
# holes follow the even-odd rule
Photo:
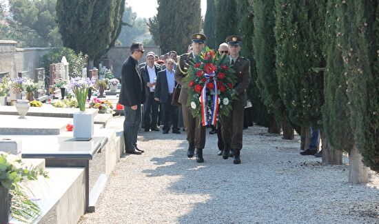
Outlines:
[[[221,131],[225,147],[232,150],[241,150],[243,141],[243,101],[234,100],[229,116],[221,116]]]

